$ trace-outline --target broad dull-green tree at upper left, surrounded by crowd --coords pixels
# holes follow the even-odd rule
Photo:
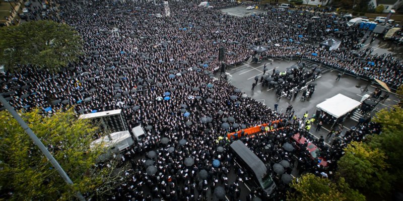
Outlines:
[[[55,72],[78,60],[82,39],[73,27],[53,21],[30,21],[0,28],[0,62],[11,72],[31,64]]]

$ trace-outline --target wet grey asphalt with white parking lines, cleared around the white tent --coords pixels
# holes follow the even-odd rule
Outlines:
[[[260,77],[263,74],[263,66],[266,62],[268,71],[265,73],[265,75],[267,75],[267,73],[272,74],[273,69],[284,72],[286,71],[286,68],[296,64],[298,60],[291,60],[290,62],[284,60],[275,60],[273,64],[268,62],[267,59],[260,63],[244,62],[242,64],[227,68],[227,80],[233,86],[241,89],[241,91],[247,94],[249,97],[258,102],[264,103],[267,107],[274,109],[274,104],[278,103],[279,112],[285,112],[288,105],[293,105],[295,114],[298,117],[302,117],[306,111],[309,113],[309,117],[312,116],[316,111],[317,104],[337,94],[343,94],[354,100],[360,101],[362,96],[373,92],[375,89],[374,87],[376,87],[374,84],[372,84],[368,87],[369,92],[362,92],[361,88],[364,88],[369,83],[368,81],[356,79],[349,75],[343,75],[340,81],[337,81],[335,79],[337,78],[339,72],[330,71],[321,74],[319,78],[314,81],[317,83],[317,85],[315,86],[315,92],[313,93],[312,98],[308,98],[306,101],[301,101],[302,93],[298,93],[296,98],[293,97],[288,99],[286,97],[281,97],[279,100],[276,96],[275,90],[270,90],[267,87],[261,86]],[[255,82],[255,76],[259,77],[259,82],[252,91],[251,88],[252,84]],[[382,92],[382,95],[384,95],[384,93],[385,92]],[[384,103],[379,104],[376,108],[381,109],[384,107],[390,107],[391,105],[396,104],[397,100],[398,99],[395,95],[390,94],[389,99]],[[371,115],[373,115],[375,111],[372,112]],[[357,122],[352,119],[346,119],[344,122],[342,122],[341,125],[344,126],[342,136],[347,129],[350,129],[356,124]],[[330,127],[331,125],[323,125],[320,131],[315,131],[316,125],[313,125],[310,132],[317,138],[320,138],[320,136],[325,137],[325,142],[328,143],[328,145],[331,145],[331,139],[326,139],[326,135],[329,132]]]

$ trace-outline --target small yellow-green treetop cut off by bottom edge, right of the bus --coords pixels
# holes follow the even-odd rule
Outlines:
[[[343,193],[337,190],[337,186],[327,178],[317,177],[314,174],[302,175],[297,180],[293,180],[291,187],[296,192],[288,193],[288,200],[299,201],[321,201],[321,200],[346,200]]]

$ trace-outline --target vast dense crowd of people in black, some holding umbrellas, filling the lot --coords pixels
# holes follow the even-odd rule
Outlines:
[[[322,157],[331,170],[333,161],[342,156],[342,149],[348,142],[360,141],[379,131],[376,125],[362,122],[345,132],[343,139],[325,146],[322,138],[313,139],[308,135],[304,126],[301,127],[303,120],[293,118],[291,109],[277,113],[226,81],[213,79],[212,73],[220,64],[217,58],[220,46],[224,46],[227,53],[234,52],[226,54],[228,64],[242,62],[252,55],[251,46],[265,45],[269,48],[264,55],[269,57],[302,56],[356,75],[378,78],[393,86],[400,85],[403,79],[403,63],[391,55],[354,51],[358,50],[364,33],[357,27],[347,28],[337,16],[271,9],[259,16],[238,18],[198,7],[195,2],[170,2],[171,16],[157,17],[155,14],[164,13],[162,5],[56,2],[58,9],[48,11],[47,18],[76,28],[84,41],[85,54],[81,61],[70,63],[55,74],[25,66],[20,73],[1,75],[0,85],[17,109],[50,107],[46,111],[52,112],[66,105],[75,105],[78,113],[122,109],[129,127],[153,126],[145,139],[124,151],[122,160],[130,163],[130,170],[126,170],[116,192],[104,197],[108,200],[200,200],[209,189],[214,192],[217,186],[224,186],[231,200],[238,199],[239,182],[251,178],[242,168],[233,168],[230,142],[224,136],[245,127],[287,119],[278,125],[283,129],[240,139],[269,169],[274,163],[287,160],[291,166],[286,172],[291,173],[294,162],[298,161],[301,173],[318,175],[326,170],[309,158],[306,149],[292,152],[283,149],[286,142],[295,145],[290,137],[300,133],[321,148]],[[216,7],[234,4],[212,2]],[[312,19],[314,16],[320,19]],[[305,44],[318,43],[330,36],[341,38],[343,48],[329,51]],[[317,56],[306,52],[315,52]],[[262,78],[269,88],[274,81],[277,90],[289,96],[318,73],[315,69],[304,72],[303,68],[289,71],[282,76],[275,71],[267,72],[269,76]],[[313,90],[314,86],[310,86],[304,93],[313,93]],[[161,100],[160,97],[169,98]],[[185,116],[185,112],[189,115]],[[230,117],[233,120],[229,120]],[[227,121],[229,126],[224,126]],[[163,138],[168,138],[169,142],[161,143]],[[267,145],[273,148],[270,156],[263,154]],[[218,151],[218,147],[224,151]],[[150,156],[149,151],[155,151],[156,156]],[[139,158],[139,155],[148,158]],[[189,157],[193,164],[186,165],[185,159]],[[221,162],[219,167],[212,165],[216,159]],[[154,174],[147,172],[150,166],[156,167]],[[207,171],[204,179],[199,175],[201,170]],[[234,171],[236,179],[229,182],[229,174]],[[272,173],[279,188],[275,197],[284,198],[288,185]],[[251,200],[262,193],[261,189],[252,188],[245,199]]]

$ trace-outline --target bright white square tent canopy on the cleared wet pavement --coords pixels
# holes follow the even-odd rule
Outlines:
[[[359,101],[351,99],[343,94],[338,94],[317,104],[316,107],[336,118],[339,118],[354,110],[359,105],[361,105]]]

